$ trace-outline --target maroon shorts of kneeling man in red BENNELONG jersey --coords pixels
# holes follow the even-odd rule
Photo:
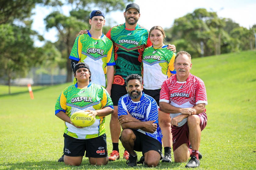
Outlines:
[[[200,118],[200,128],[201,131],[205,128],[207,124],[207,115],[206,113],[200,113],[197,116]],[[189,141],[189,131],[187,122],[181,126],[176,127],[172,126],[172,149],[175,151],[177,148],[179,148],[182,144],[186,143],[187,147],[190,145]]]

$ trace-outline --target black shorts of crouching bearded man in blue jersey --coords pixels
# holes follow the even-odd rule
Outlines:
[[[157,151],[162,158],[162,144],[158,140],[151,138],[150,136],[143,134],[139,131],[133,129],[131,130],[136,136],[133,148],[134,151],[142,152],[143,155],[148,151]],[[119,139],[121,141],[121,136],[119,137]]]

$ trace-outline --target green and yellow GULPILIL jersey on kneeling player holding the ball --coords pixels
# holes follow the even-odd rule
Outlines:
[[[91,83],[88,87],[80,89],[77,83],[66,87],[55,104],[55,114],[65,112],[69,117],[79,110],[99,110],[103,107],[113,107],[112,100],[102,86]],[[88,127],[76,128],[65,122],[64,133],[77,139],[96,138],[105,134],[105,117],[97,116],[94,124]]]

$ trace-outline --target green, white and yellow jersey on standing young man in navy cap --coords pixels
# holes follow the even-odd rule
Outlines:
[[[107,86],[107,66],[116,65],[112,41],[104,34],[94,39],[90,32],[76,37],[69,59],[88,64],[92,82],[103,87]]]

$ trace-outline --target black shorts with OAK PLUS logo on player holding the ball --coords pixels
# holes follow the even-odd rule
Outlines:
[[[108,156],[106,134],[91,139],[76,139],[64,133],[64,155],[104,158]]]

